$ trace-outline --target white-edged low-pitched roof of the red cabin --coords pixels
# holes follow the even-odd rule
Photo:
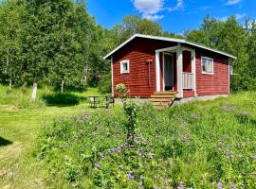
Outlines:
[[[159,36],[151,36],[151,35],[142,35],[142,34],[135,34],[134,36],[132,36],[130,39],[128,39],[127,41],[125,41],[124,43],[121,43],[117,48],[115,48],[113,51],[111,51],[108,55],[106,55],[104,57],[104,60],[109,59],[114,53],[116,53],[120,48],[122,48],[124,45],[126,45],[127,43],[130,43],[131,41],[133,41],[135,38],[144,38],[144,39],[151,39],[151,40],[158,40],[158,41],[165,41],[165,42],[174,42],[174,43],[183,43],[183,44],[189,44],[192,45],[194,47],[198,47],[198,48],[202,48],[202,49],[206,49],[209,50],[211,52],[215,52],[224,56],[227,56],[229,58],[232,58],[234,60],[236,60],[236,57],[234,57],[233,55],[230,55],[228,53],[225,53],[223,51],[219,51],[201,44],[197,44],[197,43],[192,43],[192,42],[188,42],[186,40],[183,39],[175,39],[175,38],[166,38],[166,37],[159,37]]]

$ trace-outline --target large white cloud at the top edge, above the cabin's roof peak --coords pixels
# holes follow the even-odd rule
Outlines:
[[[148,20],[158,20],[163,15],[157,15],[163,9],[164,0],[131,0],[135,8]]]

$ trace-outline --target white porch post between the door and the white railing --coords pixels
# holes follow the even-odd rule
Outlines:
[[[182,47],[177,47],[176,50],[176,58],[177,58],[177,97],[182,98],[183,97],[183,87],[182,87],[182,72],[183,72],[183,55],[182,55]]]

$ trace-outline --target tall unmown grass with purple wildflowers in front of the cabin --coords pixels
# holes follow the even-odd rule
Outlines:
[[[255,93],[137,112],[84,112],[42,129],[35,155],[61,188],[255,188]]]

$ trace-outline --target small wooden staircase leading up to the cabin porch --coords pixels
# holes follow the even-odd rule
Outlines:
[[[150,102],[153,104],[155,109],[163,110],[167,107],[172,106],[174,103],[177,92],[167,91],[167,92],[155,92],[151,95]]]

